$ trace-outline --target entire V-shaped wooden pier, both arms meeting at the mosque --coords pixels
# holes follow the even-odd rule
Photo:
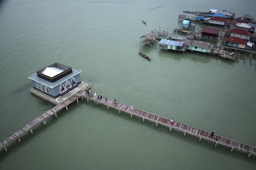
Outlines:
[[[182,132],[184,132],[184,136],[186,135],[186,133],[194,135],[199,137],[199,141],[201,141],[201,139],[206,139],[209,141],[212,141],[215,143],[215,146],[217,146],[217,144],[222,144],[228,147],[231,147],[231,152],[233,151],[233,149],[237,149],[243,152],[247,152],[248,153],[248,157],[250,157],[251,154],[256,155],[256,148],[247,144],[243,144],[240,142],[236,142],[234,140],[228,139],[226,137],[221,137],[219,135],[214,135],[213,137],[211,136],[210,132],[201,130],[201,129],[197,129],[191,126],[188,126],[186,124],[180,123],[180,122],[173,122],[173,124],[171,124],[171,120],[158,116],[158,115],[154,115],[151,114],[149,112],[145,112],[143,110],[137,109],[137,108],[133,108],[121,103],[114,103],[112,100],[108,100],[106,101],[104,98],[102,98],[101,100],[98,99],[97,96],[88,96],[84,91],[79,91],[76,94],[74,94],[73,96],[69,97],[67,100],[63,101],[62,103],[58,104],[57,106],[53,107],[52,109],[48,110],[47,112],[45,112],[43,115],[38,116],[36,119],[34,119],[33,121],[29,122],[27,125],[25,125],[24,127],[20,128],[19,130],[17,130],[16,132],[14,132],[12,135],[10,135],[9,137],[6,137],[4,140],[2,140],[0,142],[0,150],[2,150],[3,148],[5,149],[5,151],[7,151],[6,146],[8,144],[10,144],[11,142],[18,140],[20,142],[20,137],[22,135],[24,135],[26,132],[30,131],[32,133],[32,128],[35,127],[37,124],[39,123],[43,123],[45,124],[45,119],[47,119],[50,116],[56,116],[56,113],[66,107],[72,103],[73,101],[77,101],[78,102],[78,98],[85,98],[87,99],[87,102],[89,102],[89,100],[95,101],[98,104],[103,104],[106,105],[109,109],[109,107],[112,107],[114,109],[117,109],[118,112],[120,113],[120,111],[126,112],[132,115],[136,115],[139,116],[143,119],[143,122],[145,121],[145,119],[149,120],[149,121],[153,121],[156,122],[156,126],[158,124],[162,124],[164,126],[167,126],[168,128],[170,128],[170,131],[172,131],[173,129],[178,129]],[[220,138],[220,140],[215,140],[214,138]]]

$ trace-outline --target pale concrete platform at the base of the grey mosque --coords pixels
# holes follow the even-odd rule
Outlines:
[[[67,98],[71,97],[72,95],[76,94],[76,92],[80,91],[80,90],[84,90],[84,91],[87,91],[89,90],[91,87],[88,83],[85,83],[85,82],[82,82],[80,84],[78,84],[78,87],[74,88],[73,90],[71,90],[70,92],[68,92],[67,94],[64,94],[63,96],[59,96],[57,97],[56,99],[54,99],[53,97],[51,96],[48,96],[47,94],[43,93],[43,92],[40,92],[36,89],[34,89],[33,87],[30,89],[30,92],[32,94],[34,94],[35,96],[37,97],[40,97],[52,104],[59,104],[60,102],[66,100]]]

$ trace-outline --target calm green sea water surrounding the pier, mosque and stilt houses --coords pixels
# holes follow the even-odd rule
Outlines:
[[[180,28],[183,10],[256,18],[255,6],[254,0],[1,1],[0,140],[53,107],[30,94],[27,77],[58,62],[81,69],[91,86],[93,79],[93,93],[256,146],[255,56],[251,65],[243,55],[230,62],[139,43],[159,26]],[[0,151],[0,169],[255,169],[254,155],[230,150],[84,100]]]

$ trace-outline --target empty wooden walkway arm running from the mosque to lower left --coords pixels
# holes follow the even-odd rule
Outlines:
[[[16,132],[14,132],[12,135],[6,137],[4,140],[2,140],[0,142],[0,150],[4,149],[5,151],[7,151],[6,146],[16,140],[18,140],[20,142],[20,137],[22,135],[24,135],[26,132],[32,132],[32,128],[35,127],[36,125],[38,125],[39,123],[41,124],[46,124],[45,120],[51,116],[55,116],[57,117],[57,112],[60,111],[62,108],[66,107],[66,109],[68,110],[68,105],[70,103],[72,103],[73,101],[77,101],[78,102],[78,98],[81,97],[78,94],[74,94],[71,97],[69,97],[68,99],[64,100],[63,102],[61,102],[60,104],[58,104],[55,107],[52,107],[50,110],[48,110],[47,112],[45,112],[44,114],[38,116],[36,119],[32,120],[31,122],[29,122],[28,124],[26,124],[25,126],[23,126],[22,128],[20,128],[19,130],[17,130]]]

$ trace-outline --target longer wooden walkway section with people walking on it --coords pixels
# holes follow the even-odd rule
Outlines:
[[[201,141],[201,138],[204,138],[204,139],[215,142],[215,146],[217,146],[217,144],[222,144],[222,145],[225,145],[225,146],[229,146],[229,147],[231,147],[231,152],[235,148],[235,149],[238,149],[240,151],[244,151],[244,152],[249,153],[248,157],[251,154],[256,155],[256,148],[253,147],[253,146],[243,144],[243,143],[240,143],[240,142],[236,142],[236,141],[228,139],[226,137],[221,137],[219,135],[214,135],[212,137],[210,132],[207,132],[207,131],[204,131],[204,130],[201,130],[201,129],[197,129],[197,128],[188,126],[186,124],[180,123],[180,122],[174,122],[173,121],[173,125],[171,125],[171,120],[170,119],[166,119],[164,117],[157,116],[157,115],[145,112],[145,111],[137,109],[137,108],[132,109],[130,106],[126,106],[126,105],[121,104],[121,103],[114,104],[112,102],[112,100],[108,100],[106,102],[105,98],[99,100],[98,97],[94,96],[94,95],[88,97],[88,95],[85,94],[85,92],[78,92],[78,94],[87,98],[87,101],[89,101],[89,99],[96,101],[97,105],[98,105],[98,103],[101,103],[101,104],[107,105],[108,108],[109,107],[116,108],[116,109],[118,109],[119,113],[120,113],[120,111],[123,111],[123,112],[130,113],[131,117],[132,117],[132,115],[142,117],[143,122],[144,122],[144,119],[148,119],[150,121],[156,122],[156,126],[159,123],[159,124],[170,127],[170,130],[172,130],[172,128],[181,130],[181,131],[184,132],[184,136],[186,135],[186,133],[189,133],[191,135],[195,135],[195,136],[199,137],[199,141]],[[214,140],[214,138],[216,138],[216,137],[220,138],[220,141]]]

